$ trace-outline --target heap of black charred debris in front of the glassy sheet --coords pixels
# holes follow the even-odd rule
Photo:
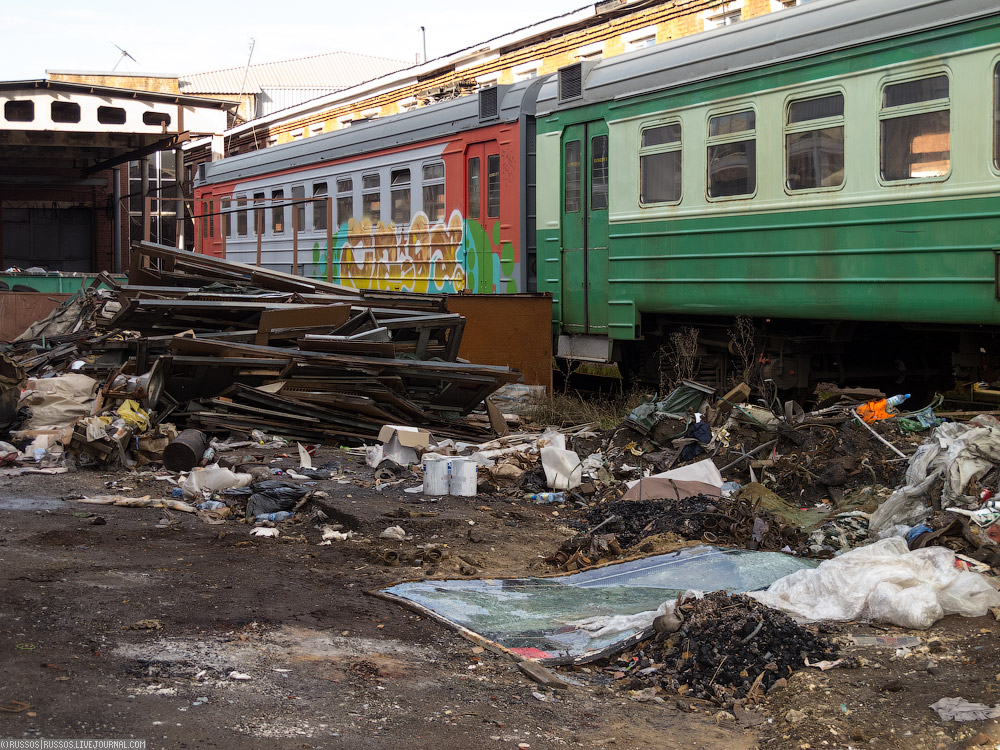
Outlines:
[[[755,702],[795,669],[837,656],[833,643],[744,594],[717,591],[674,612],[654,638],[619,657],[634,689],[658,686],[731,708]]]

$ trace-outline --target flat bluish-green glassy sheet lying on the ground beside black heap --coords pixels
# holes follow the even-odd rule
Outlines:
[[[592,618],[652,612],[689,589],[753,591],[814,565],[777,552],[698,546],[566,576],[417,581],[382,593],[515,654],[582,662],[624,647],[644,628],[622,618],[621,629],[594,632],[585,625]]]

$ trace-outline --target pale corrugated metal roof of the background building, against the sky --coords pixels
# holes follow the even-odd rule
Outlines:
[[[412,63],[354,52],[328,52],[245,67],[191,73],[178,79],[182,94],[256,93],[263,88],[347,88],[405,68]],[[246,83],[243,75],[246,71]]]

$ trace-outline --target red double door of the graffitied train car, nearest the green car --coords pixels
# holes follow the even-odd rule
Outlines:
[[[470,144],[465,150],[465,218],[475,238],[475,257],[465,259],[466,278],[476,279],[471,292],[495,292],[494,253],[491,237],[499,237],[500,146],[496,141]],[[476,231],[481,227],[482,233]],[[499,259],[499,256],[497,256]],[[496,265],[499,266],[499,263]]]

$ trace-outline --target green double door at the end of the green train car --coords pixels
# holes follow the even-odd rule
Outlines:
[[[570,125],[562,137],[563,328],[608,332],[608,125]]]

